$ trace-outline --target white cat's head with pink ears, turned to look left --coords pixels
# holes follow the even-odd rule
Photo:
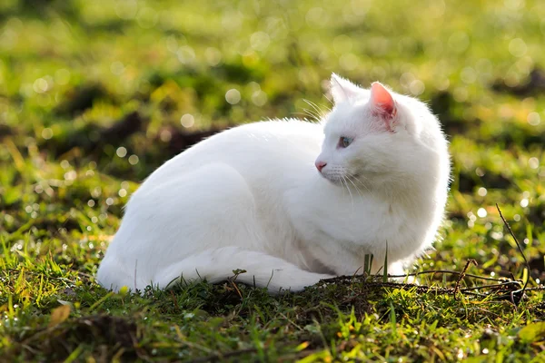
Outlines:
[[[331,93],[334,107],[324,120],[315,162],[325,179],[362,191],[391,191],[427,184],[426,178],[432,182],[444,171],[441,162],[448,168],[447,143],[423,103],[381,83],[366,90],[335,74]]]

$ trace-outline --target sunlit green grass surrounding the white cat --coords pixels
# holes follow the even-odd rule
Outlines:
[[[3,1],[0,361],[545,361],[543,19],[539,0]],[[214,130],[327,105],[332,72],[440,115],[448,218],[416,270],[476,260],[457,289],[450,273],[421,275],[431,289],[354,278],[282,297],[97,285],[145,176]],[[494,283],[471,274],[530,290],[469,295]]]

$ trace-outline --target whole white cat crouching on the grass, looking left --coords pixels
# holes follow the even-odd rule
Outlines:
[[[402,273],[431,248],[450,179],[447,141],[421,102],[335,74],[322,123],[248,123],[153,172],[127,203],[100,265],[108,289],[236,281],[301,290],[372,271]]]

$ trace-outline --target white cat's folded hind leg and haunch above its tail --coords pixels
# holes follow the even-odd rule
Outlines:
[[[203,250],[259,250],[263,233],[243,176],[224,163],[188,169],[144,182],[127,203],[97,273],[105,288],[156,285],[157,271]]]

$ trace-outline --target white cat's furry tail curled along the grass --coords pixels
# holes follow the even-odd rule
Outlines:
[[[282,290],[298,291],[332,275],[302,270],[286,260],[263,252],[224,247],[205,250],[159,270],[154,285],[164,289],[185,281],[206,280],[210,283],[233,278],[233,270],[245,270],[236,276],[236,282],[266,287],[270,293]]]

